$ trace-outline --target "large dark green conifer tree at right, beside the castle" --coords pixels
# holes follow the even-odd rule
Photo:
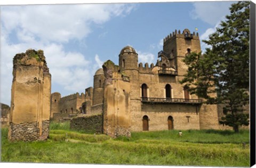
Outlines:
[[[243,113],[249,103],[249,17],[249,1],[232,4],[226,20],[203,41],[211,48],[183,60],[188,71],[181,83],[189,86],[191,94],[204,98],[204,103],[224,105],[220,123],[235,132],[249,125],[249,115]]]

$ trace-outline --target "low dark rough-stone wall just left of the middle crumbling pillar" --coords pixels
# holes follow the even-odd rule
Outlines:
[[[85,131],[86,133],[102,133],[102,114],[86,115],[73,118],[70,121],[70,129],[77,131]]]

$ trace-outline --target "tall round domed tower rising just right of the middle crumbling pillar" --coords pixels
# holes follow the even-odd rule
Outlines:
[[[141,89],[139,84],[138,54],[131,46],[124,47],[119,54],[119,67],[121,74],[130,78],[130,108],[131,124],[137,124],[134,120],[136,113],[141,111]]]

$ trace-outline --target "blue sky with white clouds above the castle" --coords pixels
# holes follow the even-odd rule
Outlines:
[[[131,45],[139,62],[156,63],[163,38],[188,28],[206,39],[229,14],[229,1],[1,5],[1,102],[10,105],[12,59],[27,49],[43,50],[52,93],[82,93],[95,70]],[[205,44],[201,44],[204,50]]]

